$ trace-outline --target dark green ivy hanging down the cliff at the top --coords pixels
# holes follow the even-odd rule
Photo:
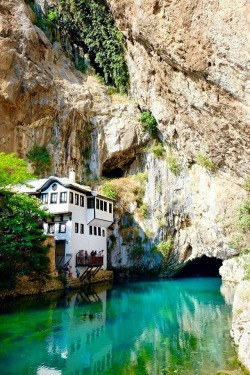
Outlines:
[[[123,35],[102,0],[60,0],[59,25],[74,42],[87,49],[91,64],[105,83],[121,93],[128,89],[128,69],[124,58]]]

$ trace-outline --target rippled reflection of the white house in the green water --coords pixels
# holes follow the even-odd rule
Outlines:
[[[61,374],[97,375],[111,366],[106,298],[106,290],[98,295],[93,290],[88,293],[81,290],[66,296],[64,309],[52,311],[56,324],[46,339],[46,350],[57,358]],[[64,360],[63,365],[60,358]]]

